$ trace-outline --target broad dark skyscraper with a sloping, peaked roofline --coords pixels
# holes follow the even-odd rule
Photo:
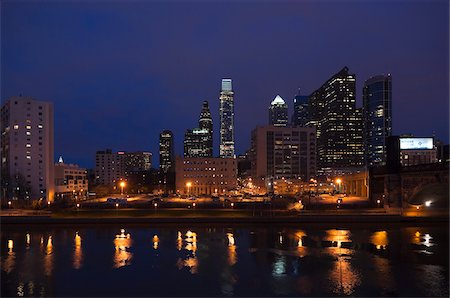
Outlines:
[[[356,78],[344,67],[308,100],[308,126],[317,128],[319,168],[332,174],[364,165],[362,113],[356,109]]]

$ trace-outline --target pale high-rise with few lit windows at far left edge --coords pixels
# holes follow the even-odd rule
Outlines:
[[[1,196],[54,199],[53,104],[11,97],[1,108]]]

